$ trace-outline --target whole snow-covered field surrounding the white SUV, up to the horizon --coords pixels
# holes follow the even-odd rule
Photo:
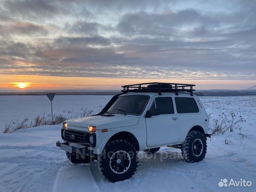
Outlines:
[[[111,96],[55,96],[53,112],[69,118],[84,111],[97,113]],[[55,146],[62,126],[39,126],[0,133],[0,192],[2,191],[256,191],[256,96],[201,97],[210,114],[210,128],[223,112],[234,112],[246,122],[241,129],[207,139],[206,158],[187,163],[180,149],[163,147],[149,159],[139,152],[135,175],[110,183],[91,165],[71,165]],[[47,96],[0,96],[0,132],[5,122],[32,121],[50,112]],[[230,118],[228,116],[228,118]],[[228,142],[229,144],[225,144]],[[219,187],[221,179],[251,181],[251,187]]]

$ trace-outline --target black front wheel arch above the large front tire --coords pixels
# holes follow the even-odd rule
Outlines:
[[[126,140],[127,142],[131,143],[137,151],[139,151],[139,142],[138,142],[137,138],[132,133],[127,132],[127,131],[118,132],[118,133],[114,134],[110,139],[108,139],[106,145],[109,142],[116,140],[116,139]]]

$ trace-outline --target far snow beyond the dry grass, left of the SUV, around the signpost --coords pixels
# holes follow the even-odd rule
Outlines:
[[[53,113],[65,117],[78,118],[84,111],[92,110],[96,114],[107,104],[112,96],[102,95],[56,95],[53,98]],[[39,96],[0,96],[0,132],[5,122],[21,122],[28,118],[32,121],[37,116],[50,114],[50,101],[46,95]]]

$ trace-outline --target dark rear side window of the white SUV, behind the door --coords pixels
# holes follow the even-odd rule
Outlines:
[[[198,113],[199,109],[197,107],[194,98],[189,97],[175,97],[175,103],[177,108],[177,113]]]

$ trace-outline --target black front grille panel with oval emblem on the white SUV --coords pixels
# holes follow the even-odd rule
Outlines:
[[[90,144],[89,137],[92,135],[94,137],[94,143]],[[69,128],[62,128],[62,139],[72,143],[79,143],[80,145],[92,146],[96,145],[96,134],[90,132],[83,132],[78,130],[73,130]]]

